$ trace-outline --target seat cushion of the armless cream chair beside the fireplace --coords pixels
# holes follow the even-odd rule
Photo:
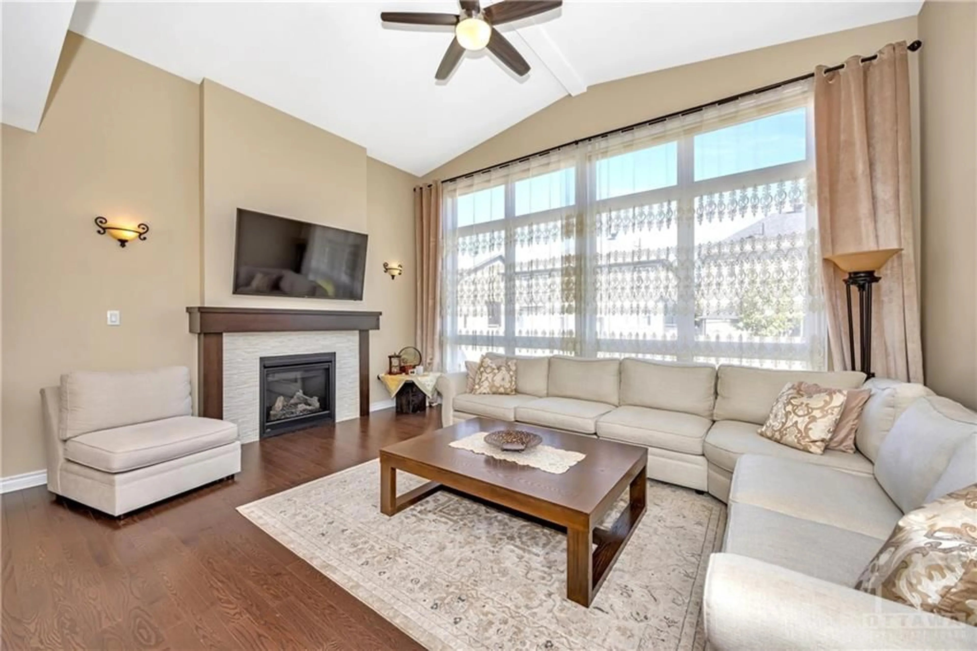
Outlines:
[[[236,440],[233,422],[176,416],[80,434],[64,444],[64,457],[96,470],[125,472]]]

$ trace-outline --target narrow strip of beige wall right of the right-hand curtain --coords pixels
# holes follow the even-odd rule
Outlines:
[[[977,409],[977,4],[919,14],[926,383]]]

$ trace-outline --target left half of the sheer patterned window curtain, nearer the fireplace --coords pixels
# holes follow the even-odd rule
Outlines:
[[[443,360],[575,354],[573,160],[536,156],[444,186]]]

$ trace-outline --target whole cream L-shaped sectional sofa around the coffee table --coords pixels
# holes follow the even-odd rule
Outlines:
[[[533,379],[520,383],[526,364]],[[709,648],[977,648],[977,628],[854,589],[906,512],[977,483],[977,414],[873,378],[855,454],[811,455],[756,433],[787,382],[863,379],[554,357],[518,359],[516,396],[470,396],[466,373],[440,388],[445,424],[483,415],[643,445],[649,477],[727,501],[704,587]]]

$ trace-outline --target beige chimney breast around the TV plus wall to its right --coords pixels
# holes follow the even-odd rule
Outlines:
[[[370,373],[414,339],[413,186],[419,180],[369,158],[316,126],[220,84],[202,84],[203,300],[205,305],[379,311]],[[362,301],[232,293],[238,207],[369,236]],[[403,262],[396,281],[383,262]],[[370,402],[389,400],[376,379]]]

